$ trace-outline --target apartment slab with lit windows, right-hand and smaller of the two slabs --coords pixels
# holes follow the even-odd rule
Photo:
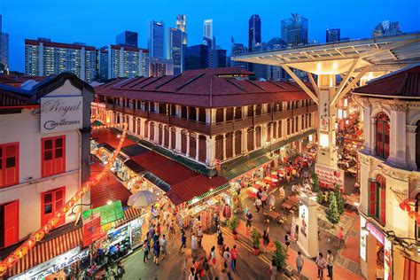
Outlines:
[[[109,45],[99,51],[102,79],[149,76],[149,51],[129,46]]]

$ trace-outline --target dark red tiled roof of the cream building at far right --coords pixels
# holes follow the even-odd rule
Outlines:
[[[354,94],[383,97],[420,97],[420,66],[411,66],[387,74],[365,86],[354,89]]]

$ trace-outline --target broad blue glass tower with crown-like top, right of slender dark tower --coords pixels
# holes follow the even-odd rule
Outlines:
[[[292,13],[292,18],[282,20],[282,39],[289,46],[306,45],[307,25],[307,19]]]

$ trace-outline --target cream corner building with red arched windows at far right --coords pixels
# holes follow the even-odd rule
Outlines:
[[[364,121],[359,159],[361,264],[367,279],[418,279],[420,273],[419,77],[416,66],[354,90]]]

